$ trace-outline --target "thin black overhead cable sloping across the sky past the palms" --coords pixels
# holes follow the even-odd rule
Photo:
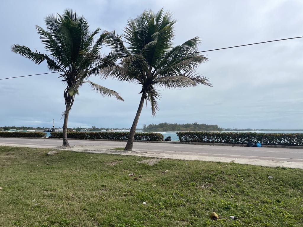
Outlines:
[[[258,43],[250,43],[250,44],[244,44],[244,45],[238,45],[238,46],[232,46],[232,47],[224,47],[224,48],[212,49],[212,50],[207,50],[207,51],[197,51],[197,52],[192,52],[192,53],[187,53],[187,54],[198,54],[198,53],[204,53],[204,52],[210,52],[210,51],[218,51],[218,50],[224,50],[224,49],[230,49],[230,48],[236,48],[236,47],[251,46],[251,45],[256,45],[256,44],[284,41],[284,40],[290,40],[290,39],[298,39],[298,38],[303,38],[303,36],[285,38],[285,39],[276,39],[276,40],[270,40],[270,41],[264,41],[264,42],[258,42]],[[186,55],[186,54],[180,54],[180,55]],[[128,61],[128,62],[123,62],[123,63],[115,63],[113,65],[133,63],[133,62],[139,62],[139,61],[148,61],[148,60],[154,60],[154,59],[158,59],[158,58],[151,58],[151,59],[137,60],[137,61]],[[83,69],[89,69],[89,68],[94,68],[94,67],[87,67],[87,68],[83,68]],[[19,77],[30,77],[30,76],[38,76],[38,75],[51,74],[51,73],[60,73],[60,72],[63,72],[63,71],[31,74],[31,75],[19,76]],[[7,79],[13,79],[13,78],[19,78],[19,77],[8,77],[8,78],[2,78],[0,80],[7,80]]]

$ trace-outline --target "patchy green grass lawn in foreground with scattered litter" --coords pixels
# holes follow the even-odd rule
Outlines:
[[[302,169],[48,151],[0,146],[1,227],[303,226]]]

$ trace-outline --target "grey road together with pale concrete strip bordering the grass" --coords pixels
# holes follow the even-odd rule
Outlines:
[[[69,150],[74,151],[303,168],[303,149],[135,142],[133,152],[113,152],[108,149],[124,147],[126,142],[69,140],[69,144]],[[0,138],[0,145],[55,148],[62,145],[62,140]]]

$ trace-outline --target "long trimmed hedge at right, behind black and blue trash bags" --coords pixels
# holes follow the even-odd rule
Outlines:
[[[249,141],[264,145],[303,146],[303,133],[213,133],[177,132],[181,142],[240,143]]]

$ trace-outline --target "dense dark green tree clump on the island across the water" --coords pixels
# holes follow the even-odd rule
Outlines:
[[[159,123],[159,124],[146,124],[143,125],[144,132],[156,131],[222,131],[223,129],[216,124],[199,124],[195,123]]]

